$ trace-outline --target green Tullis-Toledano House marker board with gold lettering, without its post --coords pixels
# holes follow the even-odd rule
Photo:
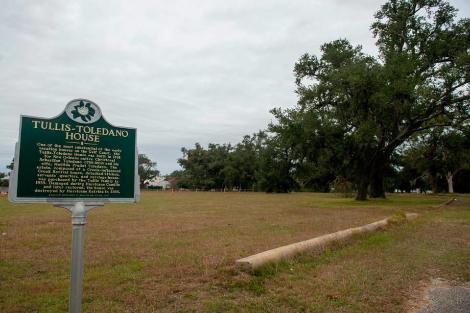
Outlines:
[[[9,198],[137,202],[137,160],[135,128],[110,124],[93,101],[72,100],[51,119],[21,116]]]

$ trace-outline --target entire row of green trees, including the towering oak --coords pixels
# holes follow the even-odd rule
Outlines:
[[[443,0],[390,0],[371,30],[378,56],[346,39],[294,66],[298,103],[241,143],[182,148],[181,187],[329,191],[337,177],[357,200],[386,190],[453,191],[468,169],[470,20]],[[337,181],[337,180],[336,180]]]

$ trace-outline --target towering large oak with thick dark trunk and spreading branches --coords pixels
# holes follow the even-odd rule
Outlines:
[[[298,106],[275,110],[279,127],[272,128],[297,138],[285,140],[296,161],[324,165],[330,162],[319,158],[341,155],[335,169],[354,173],[357,200],[368,189],[384,197],[385,169],[400,144],[424,129],[469,119],[470,21],[454,22],[455,13],[443,0],[391,0],[371,26],[377,58],[345,39],[322,45],[320,58],[304,54],[294,68]],[[313,122],[299,127],[297,115]],[[325,147],[331,152],[305,149],[305,140],[315,144],[310,137],[321,137],[324,127],[327,142],[337,142]]]

